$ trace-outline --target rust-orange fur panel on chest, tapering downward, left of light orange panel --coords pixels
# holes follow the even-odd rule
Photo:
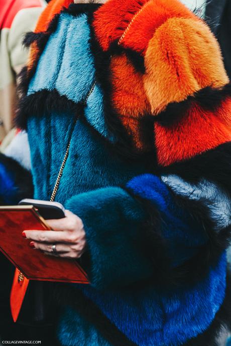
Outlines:
[[[135,70],[125,54],[111,58],[110,73],[112,106],[121,115],[122,123],[132,134],[136,146],[142,147],[139,119],[150,113],[143,75]]]

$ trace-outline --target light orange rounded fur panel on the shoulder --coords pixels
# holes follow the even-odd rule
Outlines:
[[[228,83],[218,43],[199,20],[173,18],[158,28],[145,67],[144,84],[153,114],[204,87]]]

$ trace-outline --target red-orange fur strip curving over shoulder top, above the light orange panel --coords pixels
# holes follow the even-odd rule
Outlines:
[[[151,0],[134,19],[121,45],[145,54],[157,28],[173,17],[199,20],[178,0]]]

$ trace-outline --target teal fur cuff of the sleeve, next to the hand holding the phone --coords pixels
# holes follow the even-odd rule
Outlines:
[[[72,197],[66,208],[83,220],[92,285],[118,287],[151,276],[140,232],[145,213],[126,191],[109,187],[83,193]]]

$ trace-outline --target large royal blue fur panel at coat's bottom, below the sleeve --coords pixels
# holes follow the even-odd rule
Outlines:
[[[136,344],[142,346],[151,344],[151,342],[165,346],[174,343],[184,344],[185,340],[193,337],[193,334],[197,335],[199,329],[202,332],[209,326],[209,321],[215,316],[215,311],[212,311],[211,306],[215,308],[216,305],[218,308],[216,311],[219,310],[217,303],[218,301],[222,303],[225,288],[225,261],[223,262],[223,260],[224,258],[215,268],[211,269],[209,279],[204,278],[193,288],[156,290],[152,285],[137,286],[134,284],[128,289],[124,288],[119,291],[97,291],[86,286],[82,290],[84,295],[93,300],[103,314]],[[208,283],[209,281],[210,283]],[[76,294],[72,293],[68,296],[74,298],[73,303],[69,300],[69,305],[76,306],[78,311],[76,304],[81,301],[81,299],[76,299],[78,289],[76,289]],[[184,306],[179,304],[179,300],[182,299],[185,302]],[[214,301],[212,302],[213,299],[215,304]],[[145,311],[145,314],[142,311]],[[74,315],[74,309],[71,310],[71,313]],[[201,313],[203,318],[201,318]],[[140,319],[140,314],[144,318]],[[75,324],[74,318],[72,321],[69,320],[69,326],[72,325],[71,328],[74,329],[78,324]],[[93,320],[92,322],[100,333],[104,332],[105,336],[104,326],[100,326]],[[68,324],[67,321],[65,324]],[[64,332],[65,329],[62,327],[61,330]],[[113,337],[113,334],[111,336]],[[118,341],[120,342],[120,338]],[[117,345],[118,343],[114,340],[112,344]]]

